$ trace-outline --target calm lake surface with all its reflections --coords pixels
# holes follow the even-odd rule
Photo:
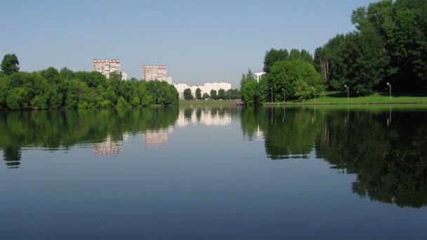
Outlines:
[[[427,239],[427,107],[0,114],[0,239]]]

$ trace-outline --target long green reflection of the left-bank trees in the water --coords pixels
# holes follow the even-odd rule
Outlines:
[[[101,143],[107,136],[167,128],[177,108],[100,109],[0,113],[0,149],[6,164],[19,165],[21,147],[68,148],[79,142]]]

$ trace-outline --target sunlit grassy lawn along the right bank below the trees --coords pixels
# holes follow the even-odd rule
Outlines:
[[[389,95],[383,93],[376,93],[374,95],[363,96],[363,97],[351,97],[347,99],[346,93],[335,92],[325,93],[324,95],[317,96],[316,101],[313,99],[300,100],[300,101],[289,101],[287,105],[291,104],[357,104],[357,103],[427,103],[427,95],[392,95],[391,100]],[[283,105],[283,102],[265,102],[265,105]]]

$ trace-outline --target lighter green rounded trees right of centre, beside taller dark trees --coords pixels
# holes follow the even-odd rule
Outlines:
[[[241,97],[247,105],[264,102],[304,100],[324,90],[322,77],[313,65],[313,57],[305,49],[274,49],[265,53],[265,75],[259,82],[248,69],[240,81]]]

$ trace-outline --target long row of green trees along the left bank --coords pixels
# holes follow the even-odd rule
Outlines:
[[[66,67],[19,72],[18,66],[14,54],[1,62],[0,110],[178,105],[178,91],[164,81],[121,81],[118,72],[107,79],[100,72]]]

